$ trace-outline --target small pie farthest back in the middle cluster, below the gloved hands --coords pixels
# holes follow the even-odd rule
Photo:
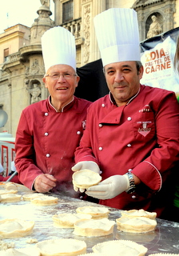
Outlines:
[[[92,218],[108,218],[109,210],[106,207],[83,206],[76,209],[77,213],[90,214]]]

